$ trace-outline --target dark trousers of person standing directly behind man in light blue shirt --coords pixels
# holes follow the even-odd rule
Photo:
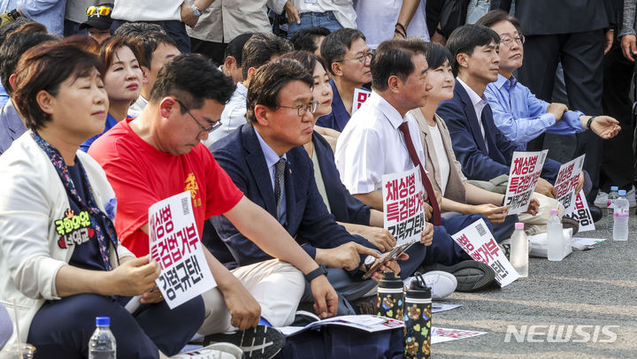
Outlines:
[[[603,30],[574,34],[526,36],[524,65],[518,80],[533,94],[551,102],[556,67],[562,62],[564,81],[572,110],[587,115],[602,114]],[[578,134],[573,157],[586,153],[584,169],[590,174],[593,188],[587,200],[595,200],[602,164],[602,140],[590,131]]]

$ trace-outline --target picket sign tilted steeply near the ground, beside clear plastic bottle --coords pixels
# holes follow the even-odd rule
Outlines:
[[[462,231],[452,234],[451,238],[474,260],[491,267],[500,286],[507,286],[519,278],[518,271],[500,250],[484,219],[480,218],[467,225]]]

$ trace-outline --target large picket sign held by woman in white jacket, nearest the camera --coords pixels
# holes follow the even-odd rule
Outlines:
[[[189,190],[150,206],[149,245],[161,266],[155,283],[170,309],[217,286],[203,255]]]

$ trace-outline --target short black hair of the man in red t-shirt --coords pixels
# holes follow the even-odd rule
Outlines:
[[[208,57],[183,54],[159,70],[149,101],[158,103],[165,96],[174,95],[188,108],[200,109],[204,100],[227,103],[233,92],[232,79],[221,73]],[[181,113],[185,112],[181,108]]]

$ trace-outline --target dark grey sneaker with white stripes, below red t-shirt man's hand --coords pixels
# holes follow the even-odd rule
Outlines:
[[[206,335],[203,345],[215,342],[232,343],[243,350],[246,359],[270,359],[279,354],[285,346],[285,335],[278,330],[265,325],[233,333],[219,333]]]

